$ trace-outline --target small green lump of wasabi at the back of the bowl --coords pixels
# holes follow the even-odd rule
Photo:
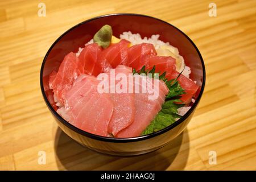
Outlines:
[[[93,42],[97,43],[103,48],[107,48],[110,45],[112,38],[112,27],[105,24],[96,34],[93,36]]]

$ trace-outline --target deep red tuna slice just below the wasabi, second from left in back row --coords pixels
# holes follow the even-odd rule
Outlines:
[[[82,49],[79,55],[77,67],[81,73],[97,76],[104,69],[110,69],[111,66],[102,55],[102,49],[97,43],[88,44]]]

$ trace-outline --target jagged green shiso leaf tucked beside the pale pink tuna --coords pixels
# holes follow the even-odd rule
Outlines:
[[[135,73],[138,73],[139,75],[141,75],[142,73],[144,75],[152,73],[153,78],[155,77],[155,74],[157,74],[155,73],[155,66],[150,71],[146,71],[145,66],[143,66],[141,71],[139,72],[136,72],[136,70],[133,69],[133,74]],[[177,76],[177,78],[179,76]],[[164,72],[158,78],[159,80],[163,80],[166,83],[169,89],[169,93],[166,96],[166,101],[162,105],[162,109],[155,116],[150,125],[148,125],[147,128],[142,132],[141,135],[147,135],[162,130],[167,126],[170,126],[176,121],[176,119],[181,117],[181,115],[178,114],[177,109],[184,106],[184,104],[179,104],[182,103],[179,98],[181,94],[185,93],[184,89],[181,88],[179,82],[177,81],[177,78],[168,81],[166,78],[166,72]]]

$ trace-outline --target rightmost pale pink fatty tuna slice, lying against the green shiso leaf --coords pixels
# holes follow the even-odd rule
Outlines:
[[[141,75],[134,75],[134,77],[142,77]],[[149,80],[150,81],[150,80]],[[158,80],[159,81],[159,80]],[[134,82],[134,85],[139,84],[140,89],[144,85],[142,82]],[[151,83],[154,85],[154,81]],[[131,123],[125,129],[119,131],[116,137],[118,138],[129,138],[138,137],[150,125],[151,121],[154,119],[155,115],[162,109],[166,94],[168,93],[168,88],[164,82],[159,81],[159,92],[158,97],[155,100],[149,100],[149,93],[135,93],[135,118],[134,122]]]

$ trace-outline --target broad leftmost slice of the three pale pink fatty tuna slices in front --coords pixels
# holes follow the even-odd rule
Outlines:
[[[81,130],[107,137],[114,108],[109,95],[99,93],[97,86],[96,77],[80,75],[64,94],[64,117]]]

